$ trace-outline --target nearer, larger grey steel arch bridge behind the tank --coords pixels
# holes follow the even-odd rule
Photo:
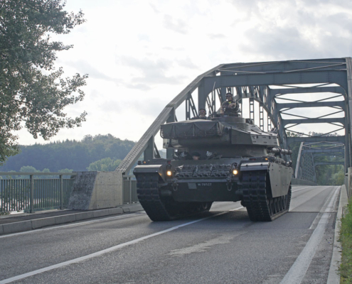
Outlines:
[[[313,156],[326,154],[328,148],[314,155],[305,151],[309,150],[309,145],[314,147],[312,143],[319,142],[333,143],[344,149],[347,171],[351,167],[351,71],[351,58],[218,65],[196,77],[161,111],[115,170],[121,179],[120,184],[122,186],[124,176],[128,175],[142,154],[144,160],[160,158],[154,137],[161,124],[191,119],[198,115],[199,108],[204,107],[208,109],[208,114],[213,114],[225,101],[226,92],[235,95],[241,104],[242,115],[253,119],[262,130],[276,128],[282,148],[289,148],[289,144],[294,142],[302,143],[297,161],[297,166],[301,168],[296,169],[296,178],[310,175],[308,179],[312,180],[313,177],[314,180]],[[181,107],[186,108],[184,117],[176,118],[176,109]],[[324,124],[328,130],[316,133],[316,124]],[[307,133],[300,130],[307,125],[313,131]],[[287,135],[288,131],[290,136]],[[338,136],[329,136],[336,132]],[[172,149],[166,150],[166,158],[171,158],[173,154]],[[309,158],[311,162],[308,162]]]

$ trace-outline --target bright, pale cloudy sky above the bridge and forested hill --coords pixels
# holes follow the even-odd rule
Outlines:
[[[67,0],[66,11],[80,9],[87,21],[53,39],[74,45],[56,67],[89,75],[85,99],[66,108],[87,111],[87,121],[50,141],[107,133],[138,141],[166,104],[222,63],[352,55],[351,0]],[[21,145],[48,142],[16,134]]]

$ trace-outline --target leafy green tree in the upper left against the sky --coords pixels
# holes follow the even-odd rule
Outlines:
[[[64,6],[62,0],[0,1],[0,165],[18,153],[12,131],[23,125],[48,140],[85,121],[85,111],[70,118],[63,110],[82,101],[87,75],[63,78],[63,69],[54,67],[56,52],[73,45],[50,35],[70,33],[85,21],[82,11],[68,13]]]

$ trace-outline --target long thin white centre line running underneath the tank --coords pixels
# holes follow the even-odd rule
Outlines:
[[[221,212],[221,213],[218,213],[218,214],[215,214],[213,216],[209,216],[209,217],[205,217],[205,218],[201,218],[201,219],[198,219],[198,220],[194,220],[194,221],[191,221],[191,222],[188,222],[188,223],[185,223],[185,224],[181,224],[181,225],[178,225],[178,226],[173,226],[171,227],[170,229],[166,229],[164,231],[159,231],[157,233],[154,233],[154,234],[150,234],[148,236],[142,236],[141,238],[138,238],[138,239],[134,239],[132,241],[127,241],[126,243],[123,243],[123,244],[118,244],[117,246],[112,246],[111,248],[109,249],[103,249],[102,251],[97,251],[95,253],[90,253],[88,254],[87,256],[81,256],[79,258],[75,258],[75,259],[72,259],[70,261],[64,261],[62,263],[58,263],[58,264],[55,264],[53,266],[48,266],[48,267],[45,267],[45,268],[41,268],[41,269],[38,269],[36,271],[31,271],[31,272],[28,272],[28,273],[24,273],[24,274],[21,274],[21,275],[17,275],[17,276],[14,276],[14,277],[11,277],[11,278],[7,278],[7,279],[4,279],[4,280],[1,280],[0,281],[0,284],[5,284],[5,283],[11,283],[13,281],[16,281],[16,280],[20,280],[20,279],[23,279],[23,278],[27,278],[29,276],[33,276],[33,275],[36,275],[36,274],[39,274],[39,273],[43,273],[43,272],[46,272],[46,271],[51,271],[55,268],[60,268],[60,267],[63,267],[63,266],[68,266],[72,263],[78,263],[80,261],[85,261],[87,259],[90,259],[90,258],[94,258],[96,256],[101,256],[102,254],[104,253],[110,253],[111,251],[115,251],[117,249],[122,249],[124,246],[129,246],[129,245],[132,245],[132,244],[137,244],[139,241],[144,241],[146,239],[150,239],[154,236],[159,236],[161,234],[165,234],[165,233],[168,233],[169,231],[174,231],[176,229],[179,229],[183,226],[188,226],[188,225],[191,225],[191,224],[194,224],[194,223],[197,223],[197,222],[201,222],[203,220],[206,220],[206,219],[210,219],[210,218],[213,218],[213,217],[217,217],[217,216],[220,216],[220,215],[223,215],[223,214],[226,214],[228,212]]]

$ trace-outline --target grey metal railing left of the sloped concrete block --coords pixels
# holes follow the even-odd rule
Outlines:
[[[66,208],[73,189],[73,175],[77,173],[0,172],[0,214],[21,211],[32,213],[39,209]],[[17,178],[17,176],[21,177]],[[29,178],[23,178],[23,176]]]

